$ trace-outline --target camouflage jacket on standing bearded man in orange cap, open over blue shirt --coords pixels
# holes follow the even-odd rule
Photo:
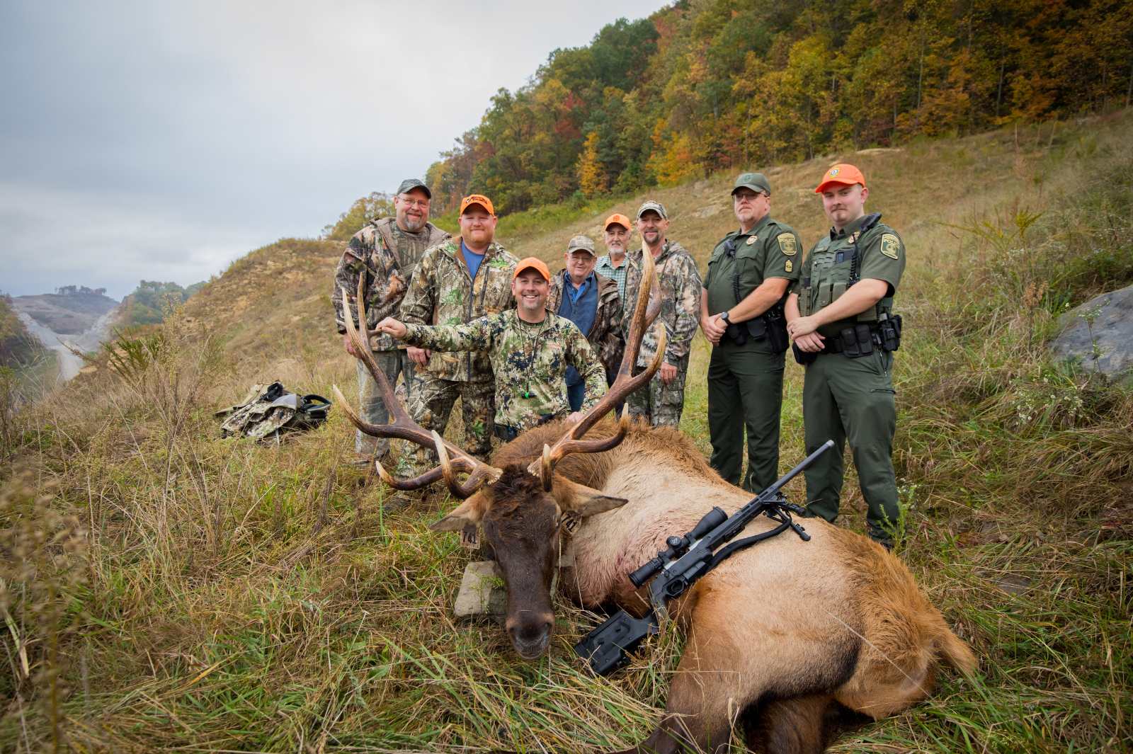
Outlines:
[[[460,252],[460,237],[429,248],[421,256],[409,292],[401,302],[400,319],[407,325],[463,325],[484,315],[516,306],[511,273],[519,260],[493,242],[472,280]],[[492,379],[492,361],[479,351],[434,353],[428,370],[441,379],[484,382]]]

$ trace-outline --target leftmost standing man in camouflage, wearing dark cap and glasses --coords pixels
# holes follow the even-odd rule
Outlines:
[[[431,199],[432,194],[421,181],[414,178],[401,181],[398,194],[393,197],[395,216],[372,220],[347,242],[339,267],[334,272],[334,292],[331,294],[335,325],[342,335],[347,353],[358,355],[346,335],[347,328],[342,319],[343,289],[357,323],[355,299],[358,279],[365,277],[368,320],[365,331],[373,331],[374,325],[383,318],[397,314],[425,249],[449,238],[448,233],[428,222]],[[358,329],[364,331],[361,326]],[[407,354],[398,346],[397,341],[381,333],[369,335],[369,349],[391,385],[397,384],[399,372],[402,375],[406,395],[411,397],[416,388],[414,361],[410,358],[412,354]],[[366,371],[361,360],[358,360],[356,366],[361,418],[375,425],[386,423],[389,414],[377,389],[377,383]],[[360,454],[384,455],[389,447],[387,439],[377,439],[360,431],[355,434],[355,449]]]

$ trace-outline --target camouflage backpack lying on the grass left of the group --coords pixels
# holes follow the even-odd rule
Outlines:
[[[276,440],[284,432],[313,429],[326,421],[331,402],[322,395],[289,393],[281,383],[253,385],[240,403],[221,409],[216,415],[222,437],[254,437]]]

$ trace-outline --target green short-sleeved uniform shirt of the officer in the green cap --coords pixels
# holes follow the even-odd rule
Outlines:
[[[708,258],[708,274],[705,275],[708,314],[731,309],[768,277],[799,280],[801,249],[799,234],[769,215],[747,233],[733,231],[725,235]],[[736,274],[739,281],[735,281]],[[739,298],[735,282],[739,283]]]

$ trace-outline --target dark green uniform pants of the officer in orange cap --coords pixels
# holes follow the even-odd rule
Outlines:
[[[897,425],[893,379],[893,354],[881,351],[847,359],[841,353],[820,354],[807,367],[802,387],[802,419],[807,453],[827,439],[835,447],[806,471],[807,499],[811,513],[834,521],[838,515],[844,464],[850,452],[861,495],[869,511],[870,537],[888,540],[887,526],[897,522],[897,483],[893,473],[893,432]]]

